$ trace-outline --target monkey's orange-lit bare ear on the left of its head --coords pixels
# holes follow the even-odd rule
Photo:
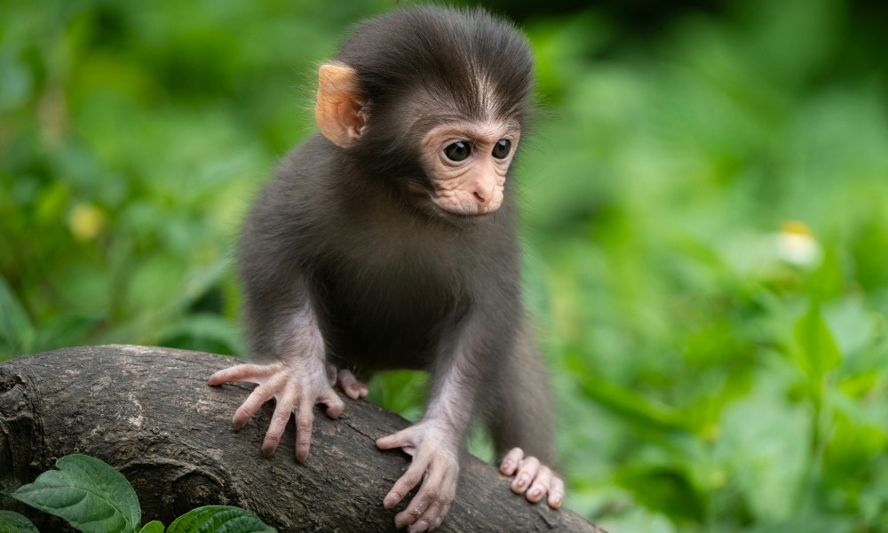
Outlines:
[[[352,145],[364,131],[367,102],[361,99],[358,73],[338,64],[321,65],[314,120],[324,137],[340,147]]]

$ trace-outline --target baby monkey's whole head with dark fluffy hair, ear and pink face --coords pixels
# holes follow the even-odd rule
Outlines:
[[[362,23],[321,66],[318,127],[410,206],[480,221],[503,204],[530,112],[527,41],[483,12],[386,19]]]

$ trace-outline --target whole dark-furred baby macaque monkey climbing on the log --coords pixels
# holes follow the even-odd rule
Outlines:
[[[486,12],[412,7],[362,22],[321,66],[320,133],[284,159],[243,227],[246,331],[266,362],[210,385],[258,384],[235,429],[274,398],[266,456],[295,413],[303,462],[314,405],[344,409],[333,386],[356,399],[377,370],[428,370],[423,418],[377,440],[413,456],[383,501],[419,485],[398,528],[440,526],[473,418],[513,491],[551,507],[564,497],[547,466],[551,398],[521,303],[510,171],[532,82],[526,38]]]

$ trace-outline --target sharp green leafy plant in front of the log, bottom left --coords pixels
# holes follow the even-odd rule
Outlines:
[[[95,457],[69,455],[56,461],[59,470],[41,473],[12,497],[64,519],[83,533],[163,533],[163,524],[141,525],[141,508],[129,481]],[[0,512],[0,533],[36,531],[27,518]],[[178,517],[166,533],[271,533],[258,517],[227,505],[198,507]]]

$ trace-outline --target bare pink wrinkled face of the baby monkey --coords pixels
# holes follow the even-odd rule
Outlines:
[[[493,121],[445,123],[429,131],[421,158],[435,207],[472,218],[499,209],[519,138],[518,123]]]

